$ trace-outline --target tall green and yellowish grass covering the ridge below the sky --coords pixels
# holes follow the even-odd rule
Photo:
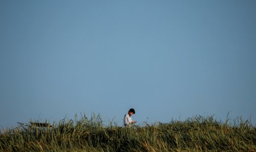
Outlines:
[[[256,151],[256,128],[242,119],[229,122],[197,116],[124,128],[104,126],[99,115],[75,116],[51,127],[27,123],[2,131],[0,151]]]

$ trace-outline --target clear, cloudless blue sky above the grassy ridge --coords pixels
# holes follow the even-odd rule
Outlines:
[[[0,1],[0,128],[92,113],[256,125],[256,1]]]

